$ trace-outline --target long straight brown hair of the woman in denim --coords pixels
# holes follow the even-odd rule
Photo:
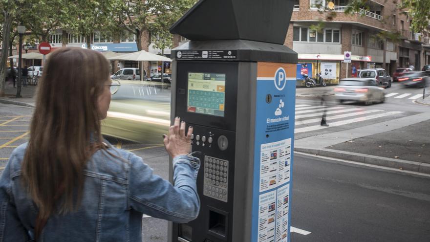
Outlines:
[[[79,207],[86,162],[105,148],[97,100],[108,78],[108,61],[97,51],[61,48],[49,56],[22,162],[22,181],[39,221]],[[43,226],[36,221],[36,236]]]

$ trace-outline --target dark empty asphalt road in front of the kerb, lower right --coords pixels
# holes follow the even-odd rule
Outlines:
[[[292,242],[429,242],[430,179],[296,154]]]

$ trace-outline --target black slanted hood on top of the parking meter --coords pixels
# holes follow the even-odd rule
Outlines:
[[[284,44],[293,0],[200,0],[170,28],[192,41]]]

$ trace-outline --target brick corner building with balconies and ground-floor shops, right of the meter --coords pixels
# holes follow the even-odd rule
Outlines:
[[[328,83],[336,84],[346,74],[356,76],[359,69],[383,67],[392,74],[396,67],[413,65],[421,69],[430,61],[430,49],[423,49],[425,42],[429,44],[428,38],[420,38],[409,30],[408,16],[393,1],[369,0],[367,10],[349,15],[344,13],[348,0],[329,2],[295,2],[285,45],[296,51],[299,63],[304,64],[298,66],[298,79],[303,72],[315,77],[317,71],[322,71]],[[319,4],[331,5],[331,9],[318,9]],[[318,24],[322,26],[320,31],[315,30]],[[400,41],[378,38],[377,34],[384,31],[400,33]],[[352,52],[348,66],[343,63],[344,51]]]

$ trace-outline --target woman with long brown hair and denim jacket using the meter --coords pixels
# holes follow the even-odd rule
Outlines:
[[[174,183],[104,141],[109,64],[96,51],[62,48],[43,72],[29,142],[0,178],[0,242],[141,242],[142,215],[187,222],[200,207],[200,161],[188,155],[193,128],[175,118],[164,136]]]

